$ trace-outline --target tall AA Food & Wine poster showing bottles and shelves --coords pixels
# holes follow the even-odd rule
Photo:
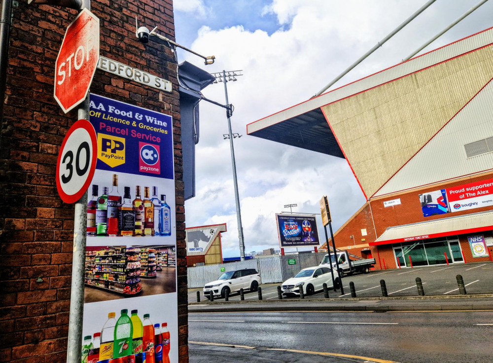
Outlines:
[[[173,125],[91,94],[82,362],[178,362]]]

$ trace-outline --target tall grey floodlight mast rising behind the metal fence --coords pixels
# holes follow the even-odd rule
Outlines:
[[[229,81],[236,81],[236,77],[243,75],[243,71],[229,71],[226,79],[226,71],[211,73],[212,76],[216,79],[214,83],[224,82],[224,96],[226,97],[226,106],[229,106],[228,101],[228,88],[226,87],[226,83]],[[240,258],[242,261],[245,261],[245,243],[243,241],[243,226],[242,226],[242,214],[240,211],[240,196],[238,194],[238,180],[236,178],[236,162],[235,162],[235,149],[233,147],[233,139],[238,137],[240,138],[240,134],[233,134],[231,132],[231,114],[233,113],[233,109],[226,109],[226,115],[228,117],[228,134],[224,134],[224,139],[229,139],[229,146],[231,148],[231,163],[233,164],[233,182],[235,186],[235,200],[236,200],[236,218],[238,219],[238,239],[240,242]]]

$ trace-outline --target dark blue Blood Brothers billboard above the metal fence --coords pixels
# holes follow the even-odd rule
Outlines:
[[[318,246],[315,216],[276,214],[281,248]]]

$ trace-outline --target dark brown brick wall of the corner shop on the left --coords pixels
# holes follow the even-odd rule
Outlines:
[[[54,64],[74,10],[14,1],[0,148],[0,362],[65,362],[73,207],[56,191],[63,138],[76,120],[53,98]],[[174,38],[172,0],[93,0],[101,55],[173,83],[173,93],[96,71],[91,92],[173,117],[179,362],[188,362],[179,96],[171,51],[135,37],[135,16]],[[37,281],[41,277],[42,281]]]

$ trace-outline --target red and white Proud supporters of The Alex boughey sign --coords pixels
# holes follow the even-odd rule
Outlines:
[[[493,179],[447,188],[451,212],[493,206]]]

